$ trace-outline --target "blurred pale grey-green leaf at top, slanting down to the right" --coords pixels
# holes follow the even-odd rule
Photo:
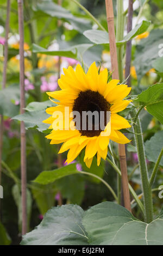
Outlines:
[[[52,17],[67,20],[70,22],[73,28],[80,33],[83,33],[86,29],[91,28],[89,21],[72,15],[70,11],[53,2],[43,1],[42,3],[38,3],[36,9],[41,10],[43,13],[46,13]]]

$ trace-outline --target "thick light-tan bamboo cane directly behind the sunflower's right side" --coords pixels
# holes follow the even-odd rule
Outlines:
[[[105,0],[105,5],[106,5],[106,17],[107,17],[108,32],[109,32],[111,69],[112,71],[114,71],[112,73],[112,78],[118,79],[119,74],[118,74],[117,49],[116,49],[115,28],[114,28],[114,11],[112,6],[112,0]],[[120,155],[120,165],[121,165],[121,173],[122,173],[124,206],[126,207],[126,209],[128,209],[131,212],[125,145],[118,144],[118,151]]]

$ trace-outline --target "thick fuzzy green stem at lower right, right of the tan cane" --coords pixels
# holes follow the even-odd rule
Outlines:
[[[133,112],[130,112],[131,118],[135,118],[136,114],[137,114],[137,111],[136,109],[134,109]],[[139,159],[142,191],[143,191],[143,198],[145,203],[145,221],[149,223],[153,221],[152,192],[151,192],[151,186],[149,185],[149,180],[148,180],[148,170],[147,170],[145,149],[143,144],[142,130],[141,130],[139,117],[137,118],[136,124],[133,125],[133,129],[135,132],[135,143],[137,148],[137,156]]]

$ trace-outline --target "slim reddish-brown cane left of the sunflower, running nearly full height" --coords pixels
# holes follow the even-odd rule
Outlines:
[[[18,30],[20,34],[20,111],[24,113],[25,93],[24,93],[24,29],[23,29],[23,4],[18,3]],[[21,121],[21,192],[22,192],[22,235],[27,233],[27,196],[26,196],[26,129]]]

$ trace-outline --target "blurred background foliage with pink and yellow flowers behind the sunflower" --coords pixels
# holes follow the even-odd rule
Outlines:
[[[48,101],[47,91],[58,90],[57,80],[68,65],[76,67],[84,65],[85,70],[94,61],[101,69],[110,70],[110,52],[108,44],[93,44],[83,33],[89,29],[98,29],[89,15],[85,14],[73,1],[63,0],[61,6],[57,1],[24,0],[24,56],[25,56],[25,90],[27,112],[22,117],[19,114],[19,35],[17,1],[11,1],[9,58],[7,68],[7,88],[0,91],[0,113],[5,116],[3,136],[3,173],[2,185],[4,198],[1,199],[0,244],[18,244],[21,240],[21,193],[20,193],[20,123],[11,119],[17,116],[24,120],[27,128],[27,181],[28,181],[28,231],[40,223],[45,212],[54,205],[72,203],[79,204],[83,209],[102,201],[114,201],[108,189],[95,178],[85,175],[69,175],[48,185],[32,182],[43,170],[53,170],[64,166],[66,154],[58,156],[58,145],[49,145],[45,139],[47,128],[42,120],[47,117],[45,109],[52,106]],[[116,1],[114,1],[115,3]],[[103,0],[80,0],[90,13],[98,19],[107,31],[105,2]],[[143,0],[134,2],[133,28]],[[127,9],[128,1],[124,1]],[[0,0],[0,40],[4,43],[4,26],[6,19],[6,3]],[[114,6],[115,19],[116,7]],[[133,39],[131,60],[132,94],[142,92],[151,84],[161,82],[163,77],[163,62],[158,64],[158,45],[163,38],[163,3],[150,0],[143,9],[142,20],[152,21],[147,32]],[[44,50],[42,48],[44,48]],[[124,45],[124,47],[126,47]],[[49,52],[46,52],[46,51]],[[42,53],[41,53],[42,52]],[[125,57],[125,56],[124,56]],[[125,58],[124,58],[125,59]],[[0,82],[2,83],[3,57],[0,57]],[[0,83],[0,88],[1,88]],[[31,103],[33,102],[33,103]],[[43,103],[41,103],[43,102]],[[128,117],[128,113],[124,113]],[[149,172],[155,160],[148,153],[152,147],[153,136],[159,142],[162,136],[162,125],[152,117],[146,109],[140,115],[143,137],[146,145],[147,164]],[[127,132],[127,131],[126,131]],[[159,133],[161,132],[161,134]],[[133,134],[128,137],[133,139]],[[163,136],[162,136],[163,138]],[[151,144],[150,144],[151,143]],[[150,145],[149,145],[150,144]],[[141,193],[139,166],[134,140],[127,145],[127,163],[130,184],[137,194]],[[118,163],[117,147],[112,143],[113,154]],[[151,150],[154,150],[153,148]],[[150,151],[151,152],[151,151]],[[163,166],[163,163],[161,163]],[[88,170],[82,160],[77,159],[76,168],[92,172],[103,177],[109,185],[117,190],[117,177],[108,163],[102,166],[92,164]],[[103,167],[104,170],[103,171]],[[154,187],[163,184],[163,169],[159,168],[158,178]],[[158,214],[161,199],[158,191],[153,193],[154,214]],[[141,212],[133,203],[133,213],[141,219]]]

